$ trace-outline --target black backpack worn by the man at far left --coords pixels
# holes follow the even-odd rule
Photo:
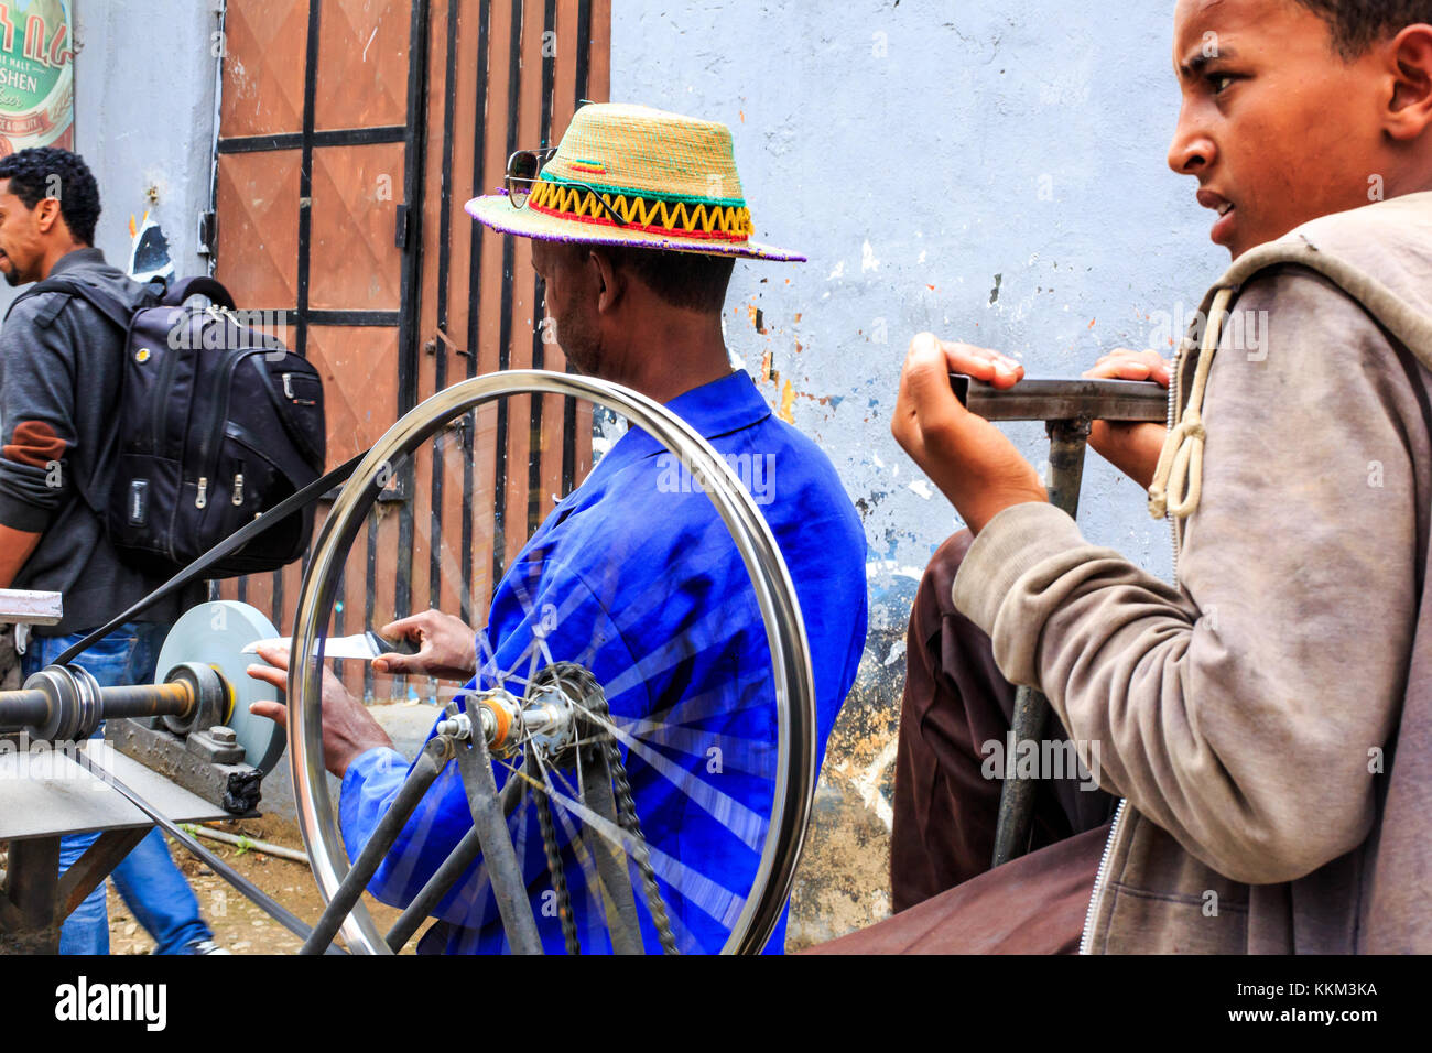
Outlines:
[[[109,489],[96,479],[84,500],[130,566],[170,577],[322,473],[322,378],[251,327],[219,282],[185,278],[137,309],[69,275],[24,297],[39,292],[80,297],[125,332],[116,434],[99,461],[110,466]],[[186,305],[190,297],[211,304]],[[304,554],[312,530],[309,506],[205,576],[278,570]]]

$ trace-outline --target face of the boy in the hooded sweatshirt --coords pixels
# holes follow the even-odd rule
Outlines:
[[[1210,236],[1234,258],[1380,189],[1378,49],[1345,62],[1295,0],[1179,0],[1174,69],[1169,166],[1197,176],[1199,203],[1221,213]]]

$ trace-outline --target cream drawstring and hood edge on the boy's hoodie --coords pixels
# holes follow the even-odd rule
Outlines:
[[[1432,371],[1432,318],[1413,308],[1362,268],[1340,256],[1323,252],[1306,235],[1299,235],[1297,239],[1269,242],[1243,254],[1204,298],[1204,304],[1211,299],[1211,305],[1207,308],[1207,324],[1203,331],[1199,361],[1193,371],[1189,400],[1177,423],[1169,430],[1163,451],[1158,454],[1158,467],[1154,468],[1154,479],[1148,486],[1148,513],[1154,519],[1163,519],[1166,514],[1174,519],[1187,519],[1199,507],[1206,437],[1203,395],[1209,385],[1209,370],[1219,350],[1229,305],[1239,289],[1254,275],[1272,266],[1287,264],[1316,271],[1337,285],[1372,315],[1373,321],[1385,328],[1395,341],[1400,342],[1423,368]],[[1180,351],[1189,350],[1191,350],[1189,340],[1184,338]],[[1177,372],[1181,374],[1181,370]],[[1183,394],[1181,375],[1174,377],[1174,405],[1177,405]]]

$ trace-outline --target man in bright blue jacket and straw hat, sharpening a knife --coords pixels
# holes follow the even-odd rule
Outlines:
[[[705,175],[692,179],[673,169],[673,143],[699,158],[699,173],[716,173],[716,198]],[[865,640],[863,532],[825,454],[772,414],[746,372],[732,371],[720,324],[733,256],[798,256],[749,239],[749,212],[723,125],[589,105],[556,156],[527,156],[534,159],[514,156],[507,195],[471,202],[468,211],[537,239],[533,265],[546,282],[547,309],[569,362],[664,403],[750,490],[796,587],[823,758]],[[571,193],[563,198],[551,188]],[[633,188],[642,189],[640,198]],[[527,195],[530,208],[523,209]],[[693,216],[713,199],[730,212],[715,223],[710,212]],[[683,208],[674,212],[677,203]],[[722,948],[766,838],[776,787],[775,682],[740,554],[673,454],[637,428],[621,437],[528,540],[498,583],[475,640],[461,622],[438,612],[387,630],[417,636],[422,648],[407,659],[384,656],[377,668],[475,673],[468,686],[478,689],[508,676],[507,688],[520,696],[531,672],[553,662],[589,669],[610,706],[676,946]],[[285,665],[282,652],[261,655]],[[253,672],[282,686],[278,669]],[[269,705],[256,712],[282,711]],[[325,686],[324,742],[329,769],[342,778],[339,822],[357,857],[408,762],[337,681]],[[503,782],[508,768],[498,762],[495,769]],[[583,825],[574,775],[553,769],[550,778],[581,947],[610,950],[591,861],[574,837]],[[564,940],[534,809],[528,795],[508,822],[544,947],[560,951]],[[407,904],[471,825],[461,776],[450,764],[369,890]],[[420,950],[507,948],[481,864],[435,914],[440,924]],[[644,910],[637,914],[644,944],[654,950],[656,928]],[[769,948],[780,950],[783,941],[785,914]]]

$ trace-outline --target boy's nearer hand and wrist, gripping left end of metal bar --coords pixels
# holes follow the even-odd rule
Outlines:
[[[978,534],[1005,509],[1050,496],[1014,443],[959,404],[951,372],[1010,388],[1024,368],[994,351],[945,342],[929,332],[916,335],[905,357],[891,433]]]

